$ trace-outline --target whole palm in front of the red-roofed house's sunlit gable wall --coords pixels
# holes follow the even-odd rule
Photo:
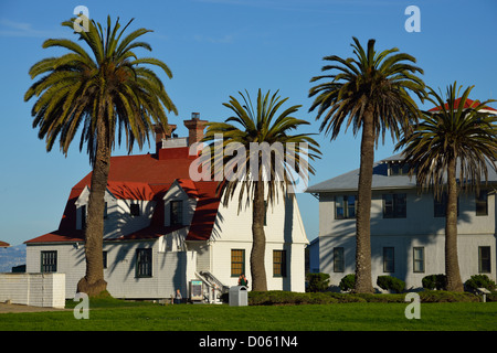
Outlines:
[[[213,161],[211,165],[214,173],[224,170],[224,176],[218,188],[223,204],[228,205],[234,195],[239,195],[240,212],[244,204],[252,202],[252,289],[265,291],[266,205],[272,206],[277,202],[279,192],[293,197],[287,194],[288,186],[297,178],[306,178],[307,171],[314,173],[314,169],[308,165],[308,158],[314,160],[320,152],[317,149],[319,145],[309,135],[289,133],[309,124],[292,116],[300,106],[292,106],[278,113],[288,98],[279,99],[277,92],[271,97],[269,92],[262,95],[258,89],[254,109],[248,93],[246,97],[242,93],[240,95],[243,104],[230,96],[230,103],[223,105],[234,115],[224,122],[210,122],[203,141],[211,142],[208,154]],[[222,146],[216,148],[220,137]],[[303,143],[306,143],[307,148]],[[263,148],[258,150],[258,147]],[[269,151],[269,163],[267,159],[264,160],[264,151],[267,151],[265,147],[275,147],[273,154]],[[233,153],[235,150],[236,153]],[[255,164],[256,167],[253,167]]]

